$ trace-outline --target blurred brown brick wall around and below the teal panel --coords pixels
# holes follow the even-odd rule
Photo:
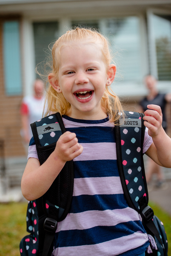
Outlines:
[[[22,95],[6,96],[5,93],[2,24],[3,19],[0,19],[0,139],[4,140],[5,157],[23,156],[25,150],[20,136]]]

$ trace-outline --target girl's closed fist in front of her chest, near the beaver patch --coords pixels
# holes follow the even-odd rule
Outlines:
[[[57,143],[54,153],[56,157],[61,159],[62,162],[70,161],[83,152],[83,147],[78,143],[75,133],[63,133]]]

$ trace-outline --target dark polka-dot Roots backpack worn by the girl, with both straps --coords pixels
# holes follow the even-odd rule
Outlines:
[[[143,162],[145,126],[144,114],[125,111],[115,126],[116,155],[123,191],[128,205],[138,211],[151,240],[150,255],[167,256],[168,244],[164,226],[148,206],[148,191]],[[66,132],[59,113],[51,114],[31,124],[40,164],[43,164]],[[141,136],[140,136],[141,134]],[[27,207],[27,232],[20,242],[21,256],[49,256],[58,221],[68,214],[74,183],[73,161],[66,162],[48,191]],[[154,241],[154,239],[155,241]],[[156,249],[157,245],[157,250]],[[149,254],[147,254],[149,255]]]

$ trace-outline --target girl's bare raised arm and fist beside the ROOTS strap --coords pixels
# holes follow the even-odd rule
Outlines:
[[[146,151],[152,160],[157,164],[171,168],[171,138],[162,128],[162,112],[157,105],[148,105],[144,114],[144,125],[149,129],[148,133],[152,137],[153,143]],[[146,122],[147,121],[147,122]]]

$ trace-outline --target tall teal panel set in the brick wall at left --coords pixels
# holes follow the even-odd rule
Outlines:
[[[8,96],[22,93],[20,31],[18,21],[3,24],[5,91]]]

